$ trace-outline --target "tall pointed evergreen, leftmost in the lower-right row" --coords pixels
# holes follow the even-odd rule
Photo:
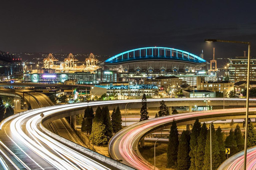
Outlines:
[[[171,131],[169,134],[169,143],[167,149],[167,167],[173,167],[177,165],[178,147],[179,147],[179,137],[178,128],[175,119],[173,119],[171,125]]]

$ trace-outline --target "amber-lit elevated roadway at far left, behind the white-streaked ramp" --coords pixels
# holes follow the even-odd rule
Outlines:
[[[22,98],[23,103],[26,101],[31,105],[32,109],[54,106],[54,103],[50,100],[50,98],[48,98],[47,95],[40,92],[35,92],[33,90],[0,89],[0,95]],[[17,104],[17,106],[19,107],[20,105]]]

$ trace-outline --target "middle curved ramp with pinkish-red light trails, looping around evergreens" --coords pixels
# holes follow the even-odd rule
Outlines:
[[[256,108],[249,109],[249,117],[255,117]],[[199,111],[192,113],[182,113],[177,115],[163,116],[152,118],[147,121],[142,121],[131,126],[128,126],[117,132],[109,141],[109,154],[115,160],[123,160],[123,163],[139,170],[151,170],[154,166],[145,160],[138,149],[139,142],[149,134],[167,129],[171,127],[173,119],[177,125],[186,125],[194,123],[195,119],[200,121],[212,121],[216,119],[235,119],[245,118],[245,108],[221,109],[212,111]],[[251,152],[252,156],[256,156],[256,152]],[[253,158],[251,158],[253,159]],[[242,161],[242,162],[241,162]],[[241,167],[243,160],[235,159],[236,170]],[[240,165],[241,164],[241,165]],[[234,170],[233,167],[229,170]],[[255,165],[254,165],[255,167]],[[255,168],[254,168],[255,169]],[[221,169],[222,170],[222,169]]]

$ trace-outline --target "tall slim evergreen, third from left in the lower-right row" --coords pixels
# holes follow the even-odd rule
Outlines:
[[[197,151],[197,137],[200,134],[200,129],[201,129],[201,123],[197,118],[191,130],[191,140],[190,140],[191,150],[189,152],[189,156],[191,157],[191,165],[189,170],[195,170],[195,154]]]

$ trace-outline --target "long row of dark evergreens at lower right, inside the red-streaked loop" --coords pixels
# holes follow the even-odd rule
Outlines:
[[[230,129],[225,138],[220,126],[215,130],[211,124],[196,119],[191,130],[183,131],[181,137],[175,119],[173,119],[167,149],[167,167],[177,170],[209,170],[210,169],[210,128],[212,135],[212,169],[216,170],[227,159],[225,148],[230,148],[230,156],[244,149],[244,135],[237,124],[235,130]],[[251,121],[248,123],[248,146],[256,145],[256,130]],[[178,148],[178,149],[177,149]]]

